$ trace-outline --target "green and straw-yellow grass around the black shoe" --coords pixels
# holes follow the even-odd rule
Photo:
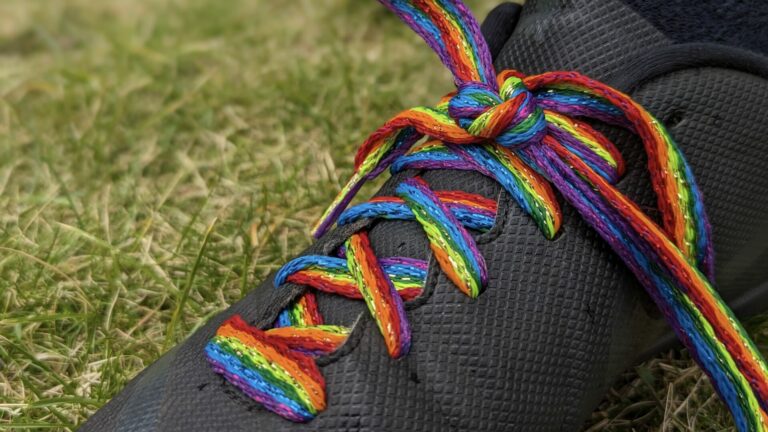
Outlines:
[[[366,133],[448,89],[375,2],[0,3],[0,429],[75,429],[308,245]],[[732,427],[672,352],[588,428],[704,425]]]

